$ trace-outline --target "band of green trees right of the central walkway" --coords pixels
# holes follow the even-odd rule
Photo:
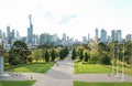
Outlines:
[[[88,44],[76,45],[73,49],[73,60],[87,63],[101,63],[110,65],[113,58],[122,61],[124,46],[124,61],[128,64],[132,64],[132,42],[123,43],[111,42],[109,44],[90,42]],[[114,52],[113,52],[114,51]]]

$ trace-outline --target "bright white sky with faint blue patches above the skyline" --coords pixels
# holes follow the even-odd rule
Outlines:
[[[123,37],[132,34],[132,0],[0,0],[0,29],[18,30],[26,36],[29,14],[33,33],[66,33],[81,40],[95,36],[95,29],[122,30]]]

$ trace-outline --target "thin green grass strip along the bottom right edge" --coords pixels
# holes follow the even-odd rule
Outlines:
[[[132,86],[132,83],[86,83],[86,82],[74,82],[74,86]]]

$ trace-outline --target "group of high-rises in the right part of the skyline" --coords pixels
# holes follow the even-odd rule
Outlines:
[[[125,41],[125,42],[132,41],[132,34],[127,34],[125,37],[123,39],[121,30],[112,30],[111,35],[108,35],[107,31],[105,29],[102,29],[100,31],[100,37],[99,37],[99,30],[96,29],[95,30],[95,37],[90,39],[89,36],[90,36],[89,34],[88,34],[88,37],[82,36],[82,43],[88,43],[88,42],[94,41],[96,43],[102,42],[105,44],[109,44],[110,42],[113,42],[113,41],[118,41],[119,43],[121,43],[123,41]]]

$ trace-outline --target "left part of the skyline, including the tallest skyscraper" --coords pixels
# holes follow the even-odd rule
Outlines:
[[[40,35],[33,34],[32,14],[29,14],[29,28],[28,35],[20,36],[19,31],[7,26],[7,34],[0,30],[0,39],[4,41],[4,47],[10,49],[15,41],[22,41],[28,44],[29,47],[35,47],[41,44],[54,44],[54,45],[73,45],[74,37],[69,37],[66,33],[63,33],[62,39],[57,34],[42,33]],[[2,43],[2,42],[1,42]]]

